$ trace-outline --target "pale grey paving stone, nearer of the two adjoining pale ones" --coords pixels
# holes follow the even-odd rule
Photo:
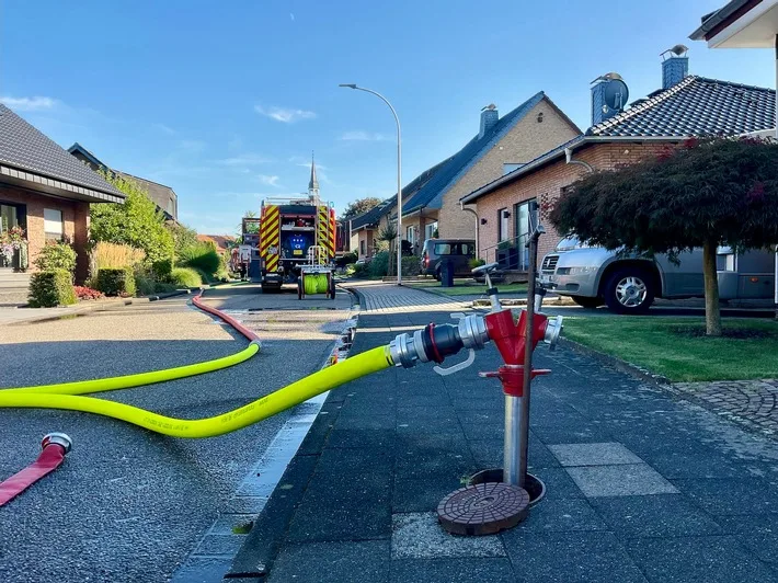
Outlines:
[[[586,496],[675,494],[678,491],[645,464],[567,468]]]

